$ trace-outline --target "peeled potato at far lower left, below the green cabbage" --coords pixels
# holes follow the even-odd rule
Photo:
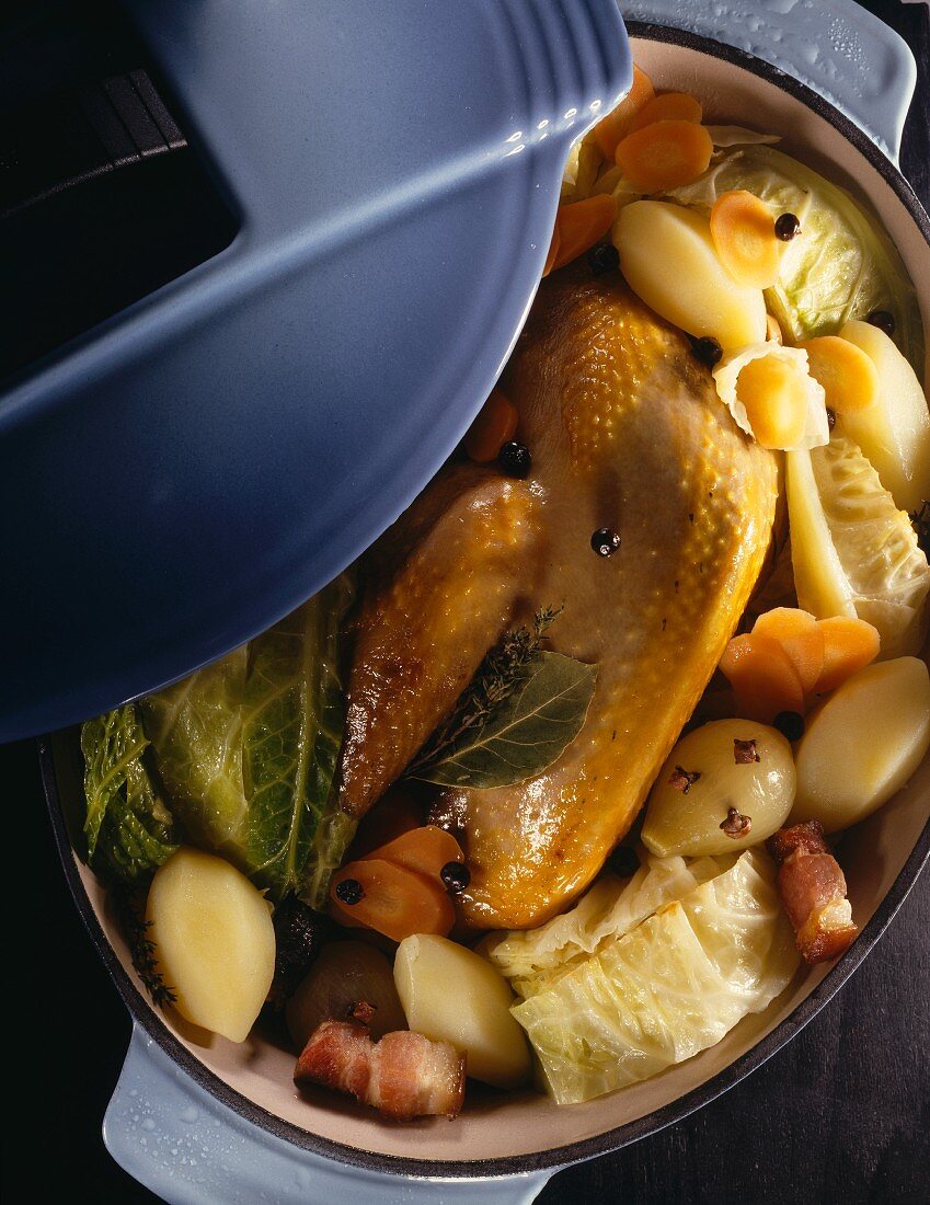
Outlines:
[[[275,974],[275,927],[261,892],[223,858],[182,846],[155,871],[146,919],[181,1016],[245,1041]]]

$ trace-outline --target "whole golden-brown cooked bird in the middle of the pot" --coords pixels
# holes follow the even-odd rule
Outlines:
[[[564,605],[551,647],[598,665],[579,736],[538,776],[447,790],[434,811],[463,833],[478,928],[546,921],[626,833],[746,606],[777,494],[775,457],[617,274],[545,281],[502,388],[528,480],[447,466],[372,549],[340,784],[364,813],[488,647]],[[602,528],[620,537],[610,557],[591,548]]]

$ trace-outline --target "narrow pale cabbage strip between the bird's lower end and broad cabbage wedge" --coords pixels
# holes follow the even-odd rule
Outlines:
[[[535,995],[664,904],[719,875],[724,866],[722,858],[695,858],[689,865],[684,858],[649,854],[631,878],[605,875],[567,912],[538,929],[492,939],[484,954],[518,995]]]

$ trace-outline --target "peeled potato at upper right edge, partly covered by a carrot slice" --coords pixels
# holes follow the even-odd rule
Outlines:
[[[930,411],[914,370],[883,330],[847,322],[840,337],[865,352],[878,370],[878,401],[838,415],[837,429],[858,443],[902,511],[930,498]]]

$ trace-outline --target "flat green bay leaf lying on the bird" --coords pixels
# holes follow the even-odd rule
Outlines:
[[[411,777],[488,790],[541,774],[581,731],[596,676],[596,665],[537,649],[504,703]]]

